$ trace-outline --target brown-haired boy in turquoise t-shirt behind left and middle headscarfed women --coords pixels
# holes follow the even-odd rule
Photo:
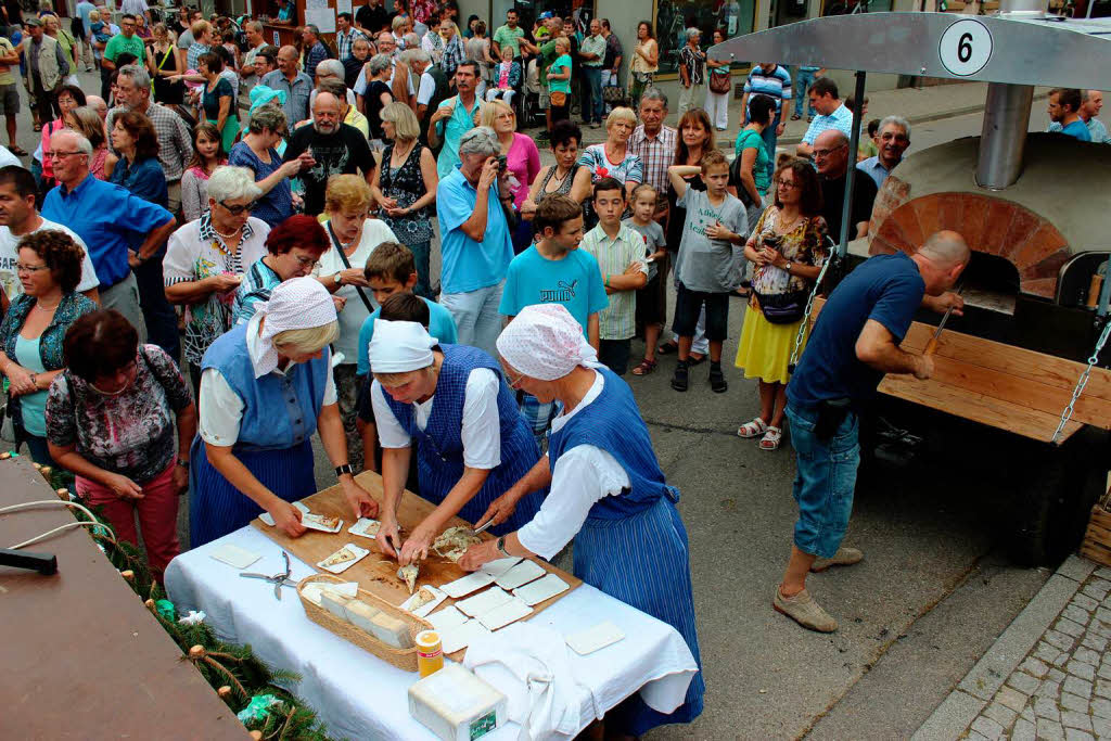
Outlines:
[[[367,348],[374,337],[374,321],[386,314],[390,321],[420,322],[440,344],[457,344],[456,320],[451,312],[439,303],[413,293],[417,284],[417,263],[413,253],[404,244],[382,242],[367,258],[363,276],[370,283],[374,301],[379,308],[363,321],[359,330],[359,366],[356,374],[359,383],[359,415],[356,425],[362,437],[363,460],[367,470],[378,471],[378,425],[370,402],[370,356]],[[414,300],[418,299],[418,300]],[[416,455],[413,460],[416,461]],[[410,477],[410,483],[412,477]],[[411,489],[410,491],[417,491]]]

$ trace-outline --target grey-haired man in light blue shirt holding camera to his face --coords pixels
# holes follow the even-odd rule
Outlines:
[[[443,259],[440,303],[456,320],[459,343],[490,353],[501,330],[498,307],[513,259],[507,218],[513,194],[507,172],[498,169],[500,153],[493,129],[467,131],[460,137],[458,163],[436,190]]]

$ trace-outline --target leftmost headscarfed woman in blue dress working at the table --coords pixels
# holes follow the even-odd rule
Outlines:
[[[289,535],[301,535],[301,512],[291,502],[317,492],[309,440],[318,429],[352,515],[378,514],[348,464],[328,350],[338,334],[328,289],[314,278],[294,278],[274,288],[249,322],[209,347],[190,451],[193,548],[263,511]]]

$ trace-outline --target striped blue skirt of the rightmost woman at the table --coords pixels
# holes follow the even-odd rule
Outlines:
[[[687,528],[671,499],[661,497],[621,520],[588,519],[574,538],[574,575],[674,628],[701,669]],[[643,735],[657,725],[689,723],[702,713],[704,693],[699,671],[672,713],[652,710],[633,694],[607,713],[605,730]]]

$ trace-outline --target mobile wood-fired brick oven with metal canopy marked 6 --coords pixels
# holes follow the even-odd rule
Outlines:
[[[983,464],[1013,475],[1015,558],[1043,563],[1072,550],[1111,464],[1111,350],[1103,351],[1111,344],[1111,280],[1103,280],[1111,278],[1111,147],[1028,128],[1035,86],[1107,87],[1111,19],[1062,19],[1047,14],[1043,1],[1011,0],[987,17],[813,19],[709,53],[854,70],[857,100],[867,71],[989,83],[981,136],[907,157],[880,189],[868,236],[851,244],[851,180],[867,176],[850,168],[834,237],[843,270],[872,254],[913,252],[939,229],[964,236],[973,250],[965,316],[941,336],[934,378],[888,377],[884,404],[942,412],[960,434],[973,430],[970,445],[1001,440]],[[859,108],[853,124],[850,152]],[[911,351],[925,347],[940,318],[919,319],[903,341]]]

